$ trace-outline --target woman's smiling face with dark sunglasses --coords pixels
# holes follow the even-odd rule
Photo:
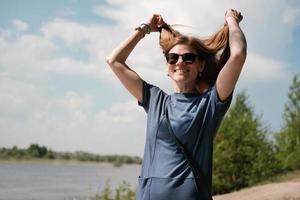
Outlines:
[[[167,62],[167,71],[170,78],[176,84],[195,84],[199,72],[202,72],[203,65],[198,57],[193,59],[192,53],[196,55],[195,50],[185,44],[175,45],[168,53],[169,62]],[[185,55],[177,56],[177,55]],[[176,59],[178,60],[176,61]],[[184,61],[186,60],[186,61]],[[193,61],[194,60],[194,61]]]

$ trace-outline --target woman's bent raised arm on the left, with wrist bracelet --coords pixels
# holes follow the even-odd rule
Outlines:
[[[119,78],[125,88],[138,100],[143,98],[143,80],[126,64],[126,60],[137,43],[150,31],[158,31],[157,27],[163,22],[160,15],[153,15],[147,25],[142,25],[136,31],[123,41],[108,56],[107,63]],[[148,32],[149,33],[149,32]]]

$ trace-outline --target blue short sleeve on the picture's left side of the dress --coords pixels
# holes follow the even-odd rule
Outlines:
[[[156,86],[153,86],[147,82],[143,82],[143,99],[138,101],[138,105],[142,106],[146,112],[148,112],[152,104],[157,104],[160,100],[162,90]]]

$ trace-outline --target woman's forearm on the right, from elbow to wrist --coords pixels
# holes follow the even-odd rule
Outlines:
[[[245,59],[247,54],[247,42],[243,31],[235,20],[229,20],[227,25],[229,28],[230,55]]]

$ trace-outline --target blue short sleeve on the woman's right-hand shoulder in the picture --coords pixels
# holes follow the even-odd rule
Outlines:
[[[223,117],[226,114],[227,110],[230,107],[230,104],[231,104],[231,101],[232,101],[232,96],[233,96],[233,91],[227,97],[227,99],[225,99],[225,101],[221,101],[220,97],[218,95],[216,86],[214,85],[212,87],[211,103],[213,104],[213,107],[215,108],[215,116],[217,118]]]

